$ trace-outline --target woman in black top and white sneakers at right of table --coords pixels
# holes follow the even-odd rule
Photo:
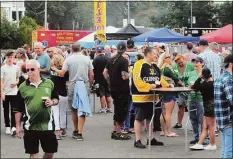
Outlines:
[[[191,146],[190,149],[216,150],[217,147],[215,142],[216,121],[214,117],[214,81],[208,68],[204,68],[202,70],[201,76],[195,81],[194,85],[191,88],[201,92],[204,105],[204,118],[201,137],[198,143],[194,146]],[[208,132],[210,135],[210,144],[206,147],[203,147],[202,144]]]

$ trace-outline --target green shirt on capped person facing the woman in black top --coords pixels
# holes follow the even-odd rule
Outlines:
[[[198,79],[198,77],[200,76],[199,72],[196,71],[192,71],[189,74],[189,78],[188,78],[188,85],[190,84],[194,84],[194,82]],[[189,93],[188,96],[189,101],[198,101],[198,102],[202,102],[202,95],[200,91],[192,91]]]

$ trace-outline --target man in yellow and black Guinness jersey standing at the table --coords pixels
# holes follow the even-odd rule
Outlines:
[[[161,80],[161,73],[155,61],[158,59],[158,50],[152,47],[146,47],[144,50],[145,58],[135,63],[133,69],[132,99],[135,107],[135,135],[134,146],[136,148],[146,148],[141,143],[142,121],[146,119],[146,128],[149,128],[149,122],[153,115],[153,92],[151,89],[168,87],[165,80]],[[162,142],[153,138],[151,145],[163,146]],[[147,144],[149,141],[147,140]]]

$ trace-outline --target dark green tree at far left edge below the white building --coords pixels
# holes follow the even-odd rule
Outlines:
[[[22,40],[20,40],[19,31],[17,24],[14,22],[9,22],[6,17],[1,18],[1,49],[16,49],[23,45]]]

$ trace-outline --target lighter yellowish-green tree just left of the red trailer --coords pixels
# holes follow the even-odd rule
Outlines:
[[[31,17],[23,17],[19,22],[19,34],[24,44],[31,44],[32,31],[41,28]]]

